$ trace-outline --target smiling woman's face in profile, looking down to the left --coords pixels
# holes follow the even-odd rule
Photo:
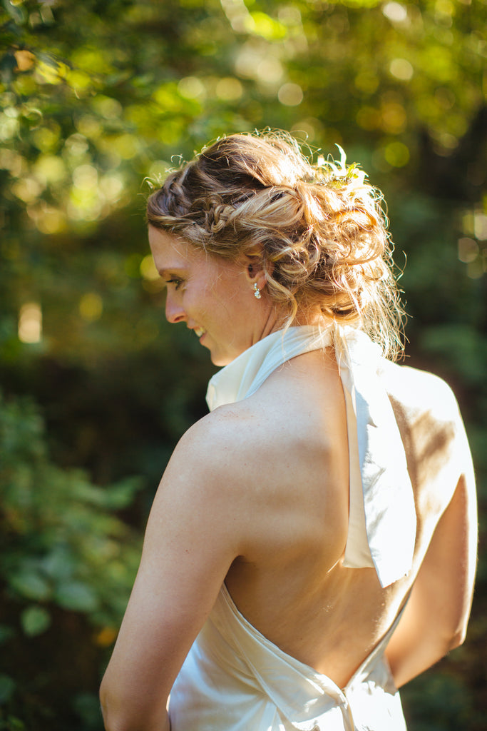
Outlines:
[[[158,273],[167,285],[166,319],[185,322],[210,350],[215,366],[226,366],[264,338],[275,325],[272,307],[253,294],[248,261],[206,254],[179,236],[149,226]]]

